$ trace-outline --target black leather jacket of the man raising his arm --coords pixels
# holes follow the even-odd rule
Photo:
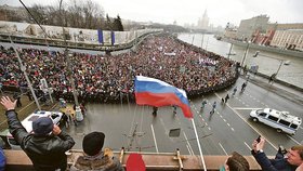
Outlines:
[[[65,152],[75,145],[71,136],[63,131],[56,136],[29,134],[19,122],[15,110],[8,110],[5,115],[11,134],[21,144],[37,171],[66,170]]]

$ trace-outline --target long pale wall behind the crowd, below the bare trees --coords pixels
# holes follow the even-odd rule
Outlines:
[[[48,34],[45,36],[44,31]],[[63,28],[60,26],[42,25],[40,28],[37,24],[16,23],[0,21],[0,34],[14,35],[28,38],[41,38],[48,40],[63,40]],[[70,42],[83,42],[100,44],[96,29],[82,29],[64,27],[65,34],[69,35],[67,41]],[[114,31],[115,44],[123,44],[133,41],[136,37],[140,37],[147,32],[161,31],[162,29],[140,29],[130,31]],[[104,45],[111,44],[111,31],[103,30]]]

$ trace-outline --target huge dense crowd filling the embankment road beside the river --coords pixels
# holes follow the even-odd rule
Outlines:
[[[80,101],[120,102],[133,100],[137,75],[163,80],[195,96],[225,86],[237,78],[235,62],[194,48],[168,35],[148,36],[135,51],[118,55],[73,53],[67,64],[63,52],[17,49],[34,88],[44,78],[56,98],[73,100],[70,75]],[[71,70],[68,71],[68,65]],[[3,88],[26,89],[26,79],[12,48],[0,51],[0,81]]]

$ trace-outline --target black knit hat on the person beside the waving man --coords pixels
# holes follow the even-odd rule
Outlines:
[[[83,152],[89,156],[95,156],[104,145],[105,134],[103,132],[91,132],[87,134],[82,142]]]

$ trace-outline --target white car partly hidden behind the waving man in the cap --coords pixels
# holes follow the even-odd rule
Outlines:
[[[50,117],[55,124],[60,124],[60,121],[62,119],[63,114],[60,111],[35,111],[30,114],[28,117],[26,117],[21,123],[26,129],[28,133],[32,132],[32,121],[37,120],[40,117]],[[18,145],[17,142],[14,140],[12,134],[8,132],[8,142],[10,145]]]

